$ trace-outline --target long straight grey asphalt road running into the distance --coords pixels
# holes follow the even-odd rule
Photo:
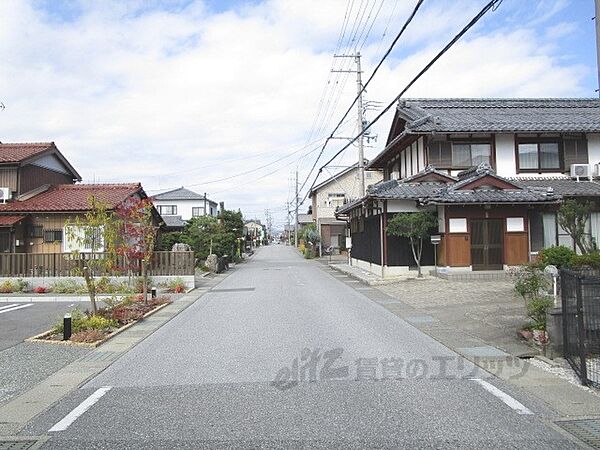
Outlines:
[[[361,289],[265,247],[26,432],[45,449],[574,446]]]

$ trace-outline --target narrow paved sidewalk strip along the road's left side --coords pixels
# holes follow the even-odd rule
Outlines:
[[[83,353],[82,357],[63,367],[55,367],[56,370],[52,371],[53,373],[46,373],[46,378],[33,380],[37,382],[36,384],[32,385],[32,381],[29,380],[24,384],[24,387],[28,388],[27,390],[0,405],[0,437],[19,433],[30,420],[113,364],[228,275],[229,273],[225,273],[204,278],[202,286],[199,288],[176,299],[169,306],[138,322],[100,347],[91,351],[86,349],[86,351],[80,352],[80,355]],[[50,347],[50,344],[28,345]],[[77,349],[77,351],[79,350]],[[72,353],[74,352],[69,352],[69,354]],[[21,356],[26,357],[27,355],[13,355],[15,358]],[[69,361],[65,360],[64,362]],[[19,366],[15,364],[14,367],[18,368]],[[11,387],[14,391],[23,390],[23,386],[11,385]]]

